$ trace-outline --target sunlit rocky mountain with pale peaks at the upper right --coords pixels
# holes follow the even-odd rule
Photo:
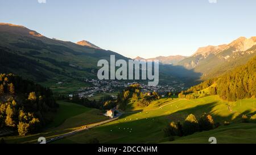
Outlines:
[[[256,55],[256,37],[239,37],[229,44],[199,48],[192,56],[184,58],[177,65],[202,73],[201,78],[220,74],[246,62]]]

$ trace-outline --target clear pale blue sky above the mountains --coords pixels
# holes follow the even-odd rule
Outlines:
[[[190,56],[199,47],[256,36],[255,6],[255,0],[0,0],[0,22],[130,58]]]

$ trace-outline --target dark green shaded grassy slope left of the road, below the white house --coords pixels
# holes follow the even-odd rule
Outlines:
[[[75,127],[80,127],[85,124],[92,124],[106,120],[103,115],[100,114],[100,110],[86,108],[75,103],[68,103],[63,101],[58,101],[60,107],[55,114],[55,119],[51,124],[48,125],[42,133],[37,133],[34,135],[27,135],[24,137],[20,136],[10,136],[5,137],[7,143],[35,143],[38,137],[43,136],[50,138],[54,135],[61,135],[72,131]]]

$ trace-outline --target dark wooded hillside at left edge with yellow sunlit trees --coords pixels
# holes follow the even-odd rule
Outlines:
[[[51,121],[58,107],[51,90],[14,74],[0,74],[0,127],[24,136]]]

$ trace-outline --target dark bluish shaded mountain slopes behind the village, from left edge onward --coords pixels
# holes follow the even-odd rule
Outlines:
[[[113,51],[49,39],[23,26],[0,24],[0,73],[15,73],[42,85],[70,83],[81,77],[97,79],[98,60],[110,61],[110,55],[115,55],[115,60],[129,60]],[[159,84],[183,87],[200,75],[182,66],[159,65]]]

